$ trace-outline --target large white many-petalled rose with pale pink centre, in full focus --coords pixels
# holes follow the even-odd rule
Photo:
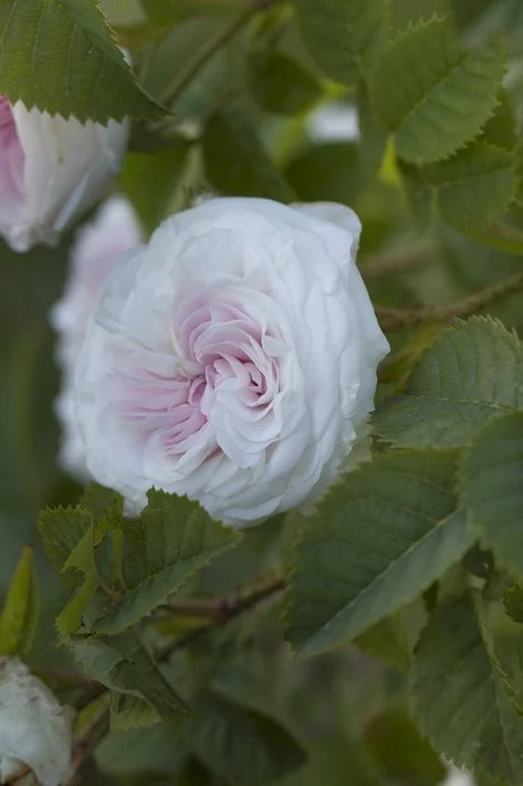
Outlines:
[[[233,526],[316,500],[388,351],[342,205],[220,198],[123,258],[75,381],[87,467],[129,513],[150,487]]]

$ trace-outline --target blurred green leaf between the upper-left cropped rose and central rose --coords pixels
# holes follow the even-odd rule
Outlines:
[[[122,167],[121,186],[135,208],[146,235],[169,211],[170,203],[188,164],[190,143],[172,141],[170,149],[129,153]]]

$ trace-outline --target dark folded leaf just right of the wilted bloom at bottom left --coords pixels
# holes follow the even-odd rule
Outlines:
[[[67,643],[85,673],[111,690],[148,702],[164,720],[187,714],[186,704],[136,633],[128,631],[111,639],[70,639]]]

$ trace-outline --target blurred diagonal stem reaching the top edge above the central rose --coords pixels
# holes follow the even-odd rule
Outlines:
[[[189,58],[185,68],[175,74],[160,95],[161,103],[172,104],[189,86],[200,69],[203,68],[212,55],[229,43],[257,13],[270,8],[274,2],[278,2],[278,0],[251,0],[248,8],[245,8],[242,13],[236,17],[228,25],[217,30],[215,35],[211,35],[202,46],[195,52],[192,58]]]

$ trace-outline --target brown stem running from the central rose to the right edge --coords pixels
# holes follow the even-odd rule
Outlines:
[[[375,311],[383,330],[401,330],[426,322],[451,322],[458,317],[470,317],[521,289],[523,289],[523,272],[480,289],[443,308],[390,309],[386,306],[375,306]]]

